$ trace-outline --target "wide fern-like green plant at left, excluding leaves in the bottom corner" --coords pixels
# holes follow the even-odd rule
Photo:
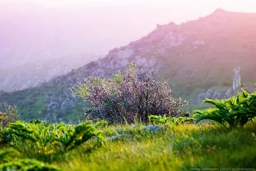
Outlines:
[[[87,142],[93,137],[97,145],[104,142],[103,134],[97,131],[102,123],[92,124],[87,121],[77,126],[64,123],[23,123],[17,121],[9,125],[9,134],[18,141],[23,141],[39,154],[67,152]]]

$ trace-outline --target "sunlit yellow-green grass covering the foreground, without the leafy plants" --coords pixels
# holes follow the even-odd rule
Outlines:
[[[106,126],[101,128],[107,139],[103,146],[90,148],[91,140],[66,154],[44,159],[25,150],[27,145],[21,143],[20,153],[12,157],[37,158],[61,170],[256,169],[256,121],[239,129],[211,124],[160,127]]]

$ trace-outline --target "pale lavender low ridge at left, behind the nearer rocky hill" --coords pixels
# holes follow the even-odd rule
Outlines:
[[[92,56],[91,58],[100,57]],[[35,87],[54,77],[67,74],[88,61],[88,55],[74,54],[0,69],[0,90],[14,91]]]

